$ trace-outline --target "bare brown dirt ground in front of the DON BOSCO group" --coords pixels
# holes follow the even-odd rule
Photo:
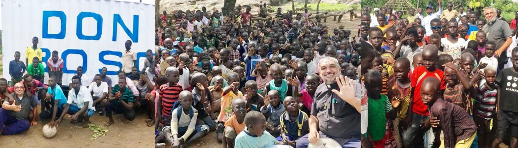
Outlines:
[[[40,108],[38,107],[38,110]],[[82,123],[71,124],[70,115],[66,115],[61,125],[57,127],[57,134],[50,139],[42,135],[43,126],[49,121],[41,121],[37,118],[38,125],[19,135],[3,136],[1,147],[154,147],[153,127],[146,126],[145,113],[138,113],[134,121],[124,124],[123,115],[113,115],[115,123],[108,129],[106,136],[98,137],[90,141],[94,132],[88,128],[81,128]],[[103,126],[108,121],[108,117],[99,116],[96,112],[90,121]]]

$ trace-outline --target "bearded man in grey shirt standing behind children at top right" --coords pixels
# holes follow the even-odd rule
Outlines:
[[[484,10],[484,17],[487,23],[482,27],[482,31],[487,33],[487,40],[495,41],[495,57],[498,57],[498,72],[503,69],[511,57],[511,50],[506,51],[512,43],[512,32],[509,24],[495,17],[496,11],[493,7]]]

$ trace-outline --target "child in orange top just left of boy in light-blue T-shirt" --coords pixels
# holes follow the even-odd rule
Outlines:
[[[232,111],[234,115],[228,118],[225,123],[225,140],[224,147],[234,147],[236,136],[244,129],[244,116],[247,114],[246,103],[243,99],[237,98],[232,100]]]

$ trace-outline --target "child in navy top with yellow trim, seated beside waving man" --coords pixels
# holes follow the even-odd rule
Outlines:
[[[291,96],[284,99],[286,111],[280,116],[281,136],[277,141],[295,147],[297,139],[308,134],[308,114],[298,109],[297,100]]]

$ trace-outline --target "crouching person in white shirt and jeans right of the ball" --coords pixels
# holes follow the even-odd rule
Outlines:
[[[72,77],[71,89],[68,92],[68,100],[61,116],[55,121],[54,125],[59,126],[65,114],[72,115],[70,123],[76,124],[85,121],[85,125],[90,123],[90,117],[94,115],[95,108],[92,106],[92,95],[86,86],[81,86],[80,76]],[[66,112],[66,113],[65,113]]]

